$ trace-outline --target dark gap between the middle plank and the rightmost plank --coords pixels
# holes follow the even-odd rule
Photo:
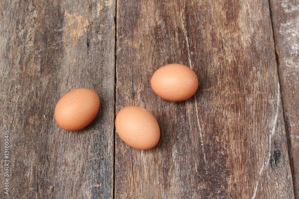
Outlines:
[[[270,19],[271,19],[271,27],[272,27],[272,36],[273,36],[273,43],[274,43],[274,51],[275,51],[275,58],[276,58],[276,68],[277,68],[277,76],[278,76],[278,87],[279,87],[279,94],[282,92],[282,87],[280,86],[282,84],[281,82],[281,79],[279,77],[279,57],[278,57],[278,53],[277,53],[277,50],[276,50],[276,44],[275,44],[275,36],[274,36],[274,30],[273,30],[273,17],[272,17],[272,10],[271,10],[271,2],[270,0],[268,0],[268,4],[269,4],[269,12],[270,12]],[[281,105],[282,105],[282,109],[283,109],[283,120],[284,120],[284,127],[286,129],[286,142],[287,142],[287,147],[288,147],[288,154],[289,154],[289,162],[290,162],[290,167],[291,167],[291,173],[292,173],[292,183],[293,183],[293,191],[295,193],[295,190],[294,190],[294,168],[292,166],[292,152],[290,151],[290,143],[289,143],[289,131],[288,131],[288,128],[286,126],[287,124],[287,121],[286,121],[286,112],[285,112],[285,109],[284,109],[284,101],[282,99],[282,95],[280,95],[280,101],[281,101]]]

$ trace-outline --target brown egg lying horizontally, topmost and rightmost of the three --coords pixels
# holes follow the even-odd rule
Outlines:
[[[197,90],[198,78],[195,72],[183,64],[162,66],[152,75],[152,90],[168,101],[184,101]]]

